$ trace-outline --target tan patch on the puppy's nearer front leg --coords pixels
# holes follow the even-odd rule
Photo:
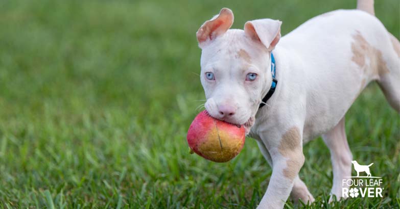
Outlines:
[[[293,180],[304,162],[300,130],[298,127],[292,127],[287,130],[282,136],[278,149],[283,156],[288,158],[283,174],[287,178]]]

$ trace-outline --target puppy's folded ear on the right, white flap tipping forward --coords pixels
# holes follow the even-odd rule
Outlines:
[[[260,41],[269,51],[272,51],[280,39],[281,24],[279,20],[256,19],[247,21],[244,31],[246,36],[254,41]]]

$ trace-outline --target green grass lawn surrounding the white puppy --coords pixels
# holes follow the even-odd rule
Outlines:
[[[204,99],[195,32],[222,7],[233,10],[233,28],[270,17],[286,34],[355,4],[1,1],[0,207],[254,208],[272,171],[253,139],[229,163],[188,153],[186,130]],[[375,8],[398,37],[399,2]],[[346,131],[354,158],[383,177],[384,198],[327,205],[332,167],[316,139],[300,172],[312,206],[399,207],[399,127],[377,85],[368,86]]]

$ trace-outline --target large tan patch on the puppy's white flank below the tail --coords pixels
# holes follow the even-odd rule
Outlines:
[[[373,75],[381,76],[389,72],[382,51],[371,46],[359,31],[352,36],[354,42],[351,44],[353,56],[351,61],[355,62],[364,71],[370,70]],[[369,65],[367,63],[369,60]]]

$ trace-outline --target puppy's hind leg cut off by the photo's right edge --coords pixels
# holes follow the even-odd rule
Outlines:
[[[391,46],[384,51],[386,62],[378,69],[380,73],[377,80],[390,106],[400,112],[400,42],[390,33]],[[387,44],[390,45],[390,44]]]

